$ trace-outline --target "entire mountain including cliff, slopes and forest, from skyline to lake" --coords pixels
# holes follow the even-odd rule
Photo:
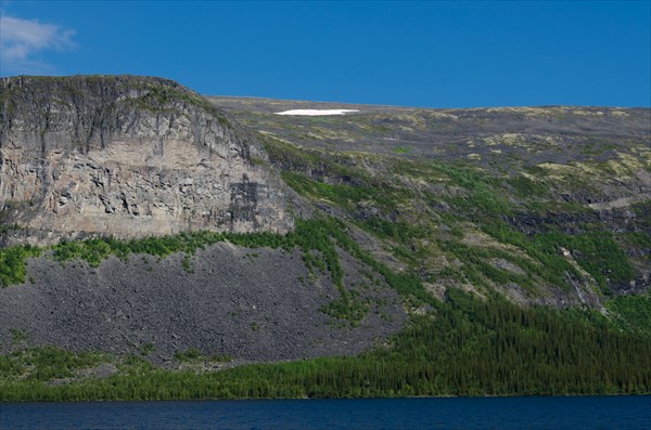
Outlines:
[[[4,400],[651,390],[649,108],[0,83]]]

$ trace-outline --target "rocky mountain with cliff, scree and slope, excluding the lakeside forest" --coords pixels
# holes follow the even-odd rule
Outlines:
[[[0,351],[17,333],[119,354],[153,344],[162,361],[352,354],[408,314],[436,318],[455,289],[649,333],[650,109],[1,83]],[[349,113],[276,115],[297,107]],[[203,232],[175,235],[189,231]],[[61,240],[86,236],[111,237]]]

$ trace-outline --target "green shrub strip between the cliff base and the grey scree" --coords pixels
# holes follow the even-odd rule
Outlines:
[[[329,315],[357,324],[366,315],[368,303],[362,303],[359,299],[350,300],[350,292],[343,282],[344,271],[336,251],[337,246],[362,259],[367,264],[371,264],[381,274],[385,274],[388,284],[396,287],[398,291],[405,292],[406,289],[399,287],[404,283],[401,281],[404,275],[388,274],[387,269],[363,252],[359,245],[347,236],[344,229],[345,224],[341,221],[321,218],[311,221],[298,220],[295,230],[286,235],[264,232],[250,234],[193,232],[131,240],[103,237],[62,242],[46,250],[36,247],[12,247],[0,250],[0,274],[3,275],[4,285],[25,282],[26,258],[38,256],[43,251],[49,258],[60,261],[62,264],[71,260],[82,260],[91,266],[98,266],[102,260],[111,256],[125,260],[132,253],[151,255],[161,259],[176,252],[192,256],[196,250],[220,242],[229,242],[247,248],[268,247],[290,250],[298,247],[302,249],[303,260],[307,268],[312,272],[320,270],[329,273],[341,295],[340,300],[326,307],[323,311]],[[188,257],[183,259],[183,268],[191,270]],[[423,297],[422,287],[419,295]]]

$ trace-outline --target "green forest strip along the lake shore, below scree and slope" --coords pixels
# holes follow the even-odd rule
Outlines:
[[[79,362],[48,349],[0,357],[0,401],[562,395],[651,392],[651,339],[613,330],[597,314],[521,309],[450,289],[387,348],[352,357],[256,364],[218,372],[164,370],[137,356],[105,379],[51,385],[39,366]],[[186,352],[186,355],[188,353]],[[197,353],[196,353],[197,355]],[[194,356],[194,354],[192,354]],[[37,376],[36,376],[37,375]],[[74,375],[74,372],[73,372]]]

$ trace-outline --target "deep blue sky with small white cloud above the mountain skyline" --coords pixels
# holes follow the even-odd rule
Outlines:
[[[651,1],[0,1],[0,75],[427,107],[651,106]]]

